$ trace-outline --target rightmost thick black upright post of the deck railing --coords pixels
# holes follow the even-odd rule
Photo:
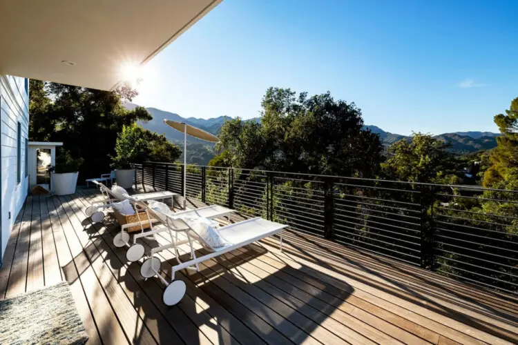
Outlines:
[[[419,204],[421,206],[421,268],[435,269],[432,186],[420,186]]]

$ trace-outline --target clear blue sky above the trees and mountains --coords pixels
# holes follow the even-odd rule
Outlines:
[[[515,0],[224,0],[148,63],[134,102],[247,119],[269,86],[329,90],[390,132],[496,132],[518,97],[516,13]]]

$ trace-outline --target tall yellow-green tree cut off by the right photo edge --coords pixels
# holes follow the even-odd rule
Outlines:
[[[509,168],[518,167],[518,97],[512,100],[505,115],[495,115],[494,119],[502,135],[497,137],[497,147],[490,156],[492,166],[484,175],[486,187],[499,184],[509,175]]]

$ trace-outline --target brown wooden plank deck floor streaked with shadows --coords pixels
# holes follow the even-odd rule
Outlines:
[[[0,269],[0,298],[66,280],[88,344],[518,342],[517,299],[289,231],[282,253],[268,239],[177,274],[187,293],[167,307],[113,246],[117,227],[86,220],[96,197],[28,197]]]

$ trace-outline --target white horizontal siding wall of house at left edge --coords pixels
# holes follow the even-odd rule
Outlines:
[[[28,193],[25,173],[26,139],[29,132],[29,102],[25,78],[0,75],[1,124],[1,246],[0,258],[6,250],[11,228]],[[17,182],[17,132],[21,124],[21,181]]]

